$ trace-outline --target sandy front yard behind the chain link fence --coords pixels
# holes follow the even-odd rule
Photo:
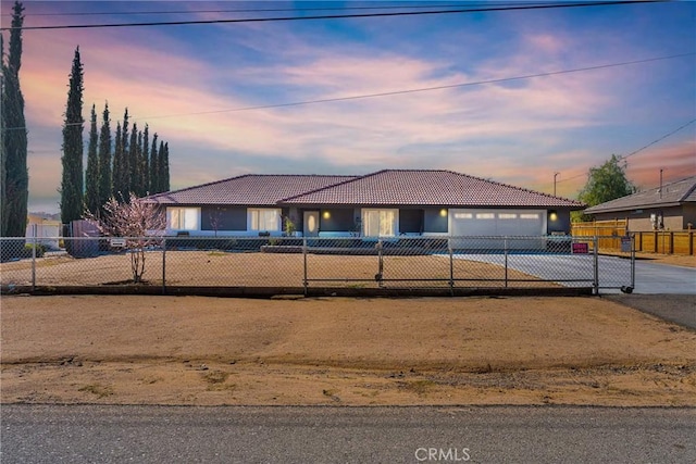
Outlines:
[[[89,259],[51,255],[37,260],[36,283],[38,286],[119,285],[133,278],[129,260],[126,254]],[[165,264],[163,266],[160,251],[147,252],[144,279],[150,285],[161,285],[164,273],[169,286],[302,287],[304,278],[303,258],[295,253],[167,251]],[[377,256],[308,254],[307,267],[311,286],[378,287],[375,281],[375,274],[380,272]],[[451,272],[457,279],[469,280],[458,284],[462,286],[505,285],[505,268],[495,264],[455,260]],[[450,277],[449,259],[443,255],[385,256],[383,273],[388,279],[407,279],[389,281],[390,287],[427,285],[446,288]],[[538,278],[514,269],[509,269],[507,277],[527,280],[511,284],[522,287],[556,286],[534,281]],[[30,285],[32,278],[30,260],[2,264],[2,285]]]

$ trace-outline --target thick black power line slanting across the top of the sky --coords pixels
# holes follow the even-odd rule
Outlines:
[[[191,21],[154,21],[147,23],[110,23],[110,24],[73,24],[66,26],[23,26],[22,30],[49,30],[49,29],[88,29],[104,27],[138,27],[138,26],[183,26],[192,24],[236,24],[236,23],[270,23],[278,21],[316,21],[316,20],[344,20],[388,16],[420,16],[433,14],[480,13],[486,11],[520,11],[520,10],[548,10],[558,8],[586,8],[606,7],[632,3],[662,3],[669,0],[614,0],[614,1],[585,1],[579,3],[552,3],[517,7],[482,7],[437,11],[408,11],[387,13],[361,13],[361,14],[322,14],[316,16],[285,16],[285,17],[252,17],[245,20],[191,20]],[[12,30],[14,27],[2,27],[0,30]]]

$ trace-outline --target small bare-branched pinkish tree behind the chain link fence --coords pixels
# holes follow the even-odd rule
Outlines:
[[[166,216],[154,203],[146,203],[130,193],[129,202],[116,201],[113,197],[104,204],[100,215],[85,212],[85,220],[94,224],[107,237],[125,239],[129,250],[133,281],[139,284],[145,274],[145,251],[159,244],[159,233],[166,226]]]

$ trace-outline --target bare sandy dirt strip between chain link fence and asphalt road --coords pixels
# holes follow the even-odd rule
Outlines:
[[[696,331],[597,297],[0,304],[2,403],[696,405]]]

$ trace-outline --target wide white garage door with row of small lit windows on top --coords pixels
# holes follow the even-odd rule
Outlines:
[[[546,235],[545,210],[450,210],[449,230],[455,237],[540,237]],[[469,243],[467,243],[469,241]],[[470,248],[471,240],[457,248]],[[505,247],[502,240],[477,240],[474,248]],[[510,240],[509,248],[538,248],[543,240]]]

